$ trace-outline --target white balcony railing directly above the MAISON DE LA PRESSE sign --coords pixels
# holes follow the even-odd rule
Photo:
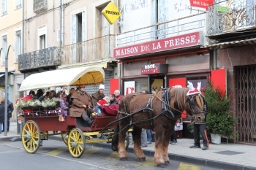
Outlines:
[[[118,47],[122,47],[156,39],[164,39],[179,34],[187,34],[191,33],[191,31],[204,31],[206,26],[205,18],[206,13],[203,12],[176,20],[157,23],[153,26],[127,31],[116,36],[116,43]]]

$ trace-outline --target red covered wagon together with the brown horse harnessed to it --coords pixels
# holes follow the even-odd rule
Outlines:
[[[97,67],[32,74],[23,81],[19,91],[64,85],[99,84],[103,82],[104,75],[104,71]],[[45,112],[41,111],[42,108],[39,108],[38,113],[24,117],[26,123],[21,135],[23,146],[27,152],[34,153],[42,139],[61,134],[69,147],[69,152],[75,158],[83,155],[86,143],[111,142],[112,150],[118,151],[121,161],[126,161],[126,149],[129,145],[127,131],[133,126],[132,138],[138,161],[145,161],[145,155],[140,147],[141,128],[152,129],[155,131],[154,160],[157,166],[165,167],[169,164],[167,147],[170,134],[181,113],[186,110],[189,115],[203,117],[206,112],[206,102],[200,93],[200,83],[197,88],[189,83],[189,88],[167,88],[157,93],[131,93],[124,96],[119,103],[117,116],[103,113],[103,116],[97,117],[91,126],[77,117],[68,116],[64,122],[59,122],[58,115],[45,115]],[[48,112],[47,108],[43,109]],[[114,128],[114,131],[110,130],[111,128]],[[61,133],[50,134],[49,131]],[[102,133],[108,134],[107,137],[95,141],[85,137]]]

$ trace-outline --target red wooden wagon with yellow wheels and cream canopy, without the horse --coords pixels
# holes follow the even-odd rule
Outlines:
[[[54,70],[31,74],[20,85],[19,91],[39,88],[50,88],[56,86],[72,85],[97,85],[104,82],[104,70],[99,67],[81,67],[75,69]],[[29,107],[23,108],[29,112],[23,112],[25,124],[21,132],[23,147],[29,153],[37,152],[42,145],[42,140],[48,140],[48,136],[61,135],[63,141],[69,147],[69,152],[74,158],[80,158],[85,151],[86,143],[111,142],[116,123],[115,115],[102,112],[101,116],[94,119],[89,125],[81,117],[70,117],[67,115],[65,121],[59,121],[57,107]],[[108,125],[101,139],[92,139],[99,131]],[[129,146],[129,138],[125,141]]]

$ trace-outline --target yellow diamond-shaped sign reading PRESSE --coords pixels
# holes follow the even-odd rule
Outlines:
[[[112,1],[110,1],[107,7],[102,10],[102,14],[105,16],[110,24],[113,24],[120,17],[121,12],[118,10],[116,5]]]

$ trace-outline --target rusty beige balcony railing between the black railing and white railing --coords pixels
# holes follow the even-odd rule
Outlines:
[[[115,35],[106,35],[72,45],[65,45],[61,47],[61,65],[113,58],[113,48],[115,46]]]

